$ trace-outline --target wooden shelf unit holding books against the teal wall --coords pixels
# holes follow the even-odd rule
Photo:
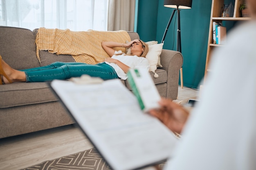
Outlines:
[[[230,2],[231,2],[231,0],[230,0]],[[213,49],[225,46],[222,44],[213,44],[213,22],[250,20],[251,19],[250,17],[242,17],[242,14],[240,11],[240,4],[242,4],[243,2],[244,2],[244,0],[235,0],[235,4],[233,4],[234,5],[233,17],[221,17],[224,0],[212,0],[208,46],[207,46],[207,56],[206,56],[205,71],[204,71],[204,80],[207,77],[207,72],[211,71],[209,69],[209,62],[211,61],[211,53],[212,53]]]

